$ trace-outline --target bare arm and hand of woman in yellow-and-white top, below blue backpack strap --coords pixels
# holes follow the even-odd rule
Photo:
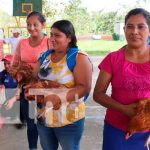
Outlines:
[[[64,90],[65,93],[63,94],[66,95],[65,99],[68,102],[74,101],[76,95],[78,95],[78,98],[86,96],[91,90],[92,64],[86,55],[78,54],[73,75],[75,79],[75,87],[71,89],[66,88],[66,90]],[[58,94],[46,96],[44,102],[51,102],[54,109],[59,109],[63,101],[61,101],[62,96],[59,97],[59,91],[61,89],[56,90],[58,90]]]

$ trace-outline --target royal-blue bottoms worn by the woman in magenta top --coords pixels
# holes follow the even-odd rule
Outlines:
[[[135,133],[128,140],[125,139],[125,134],[125,131],[117,129],[105,121],[102,150],[147,150],[144,145],[150,132]]]

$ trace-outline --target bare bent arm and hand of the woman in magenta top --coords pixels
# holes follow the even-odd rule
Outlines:
[[[93,99],[106,108],[115,109],[128,116],[134,115],[136,104],[123,105],[106,94],[106,90],[109,86],[111,79],[111,74],[107,73],[104,70],[100,71],[94,88]]]

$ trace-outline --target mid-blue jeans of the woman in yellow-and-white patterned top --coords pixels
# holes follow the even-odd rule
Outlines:
[[[85,119],[81,119],[73,124],[58,128],[46,127],[38,122],[37,128],[43,150],[57,150],[58,143],[63,150],[79,150],[84,121]]]

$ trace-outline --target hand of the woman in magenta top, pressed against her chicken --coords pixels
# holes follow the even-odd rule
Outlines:
[[[122,112],[128,117],[133,117],[136,114],[137,103],[124,105]]]

